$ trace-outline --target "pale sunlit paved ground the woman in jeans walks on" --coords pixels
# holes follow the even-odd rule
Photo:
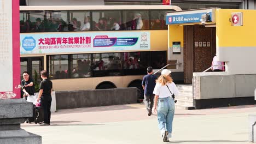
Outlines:
[[[256,105],[176,109],[167,143],[248,143],[248,115],[256,115]],[[43,143],[163,143],[156,115],[148,117],[142,104],[59,110],[51,121],[21,128],[41,135]]]

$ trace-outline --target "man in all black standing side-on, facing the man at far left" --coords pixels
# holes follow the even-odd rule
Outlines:
[[[53,89],[53,83],[47,79],[47,71],[42,70],[40,72],[43,81],[40,83],[40,90],[37,101],[41,99],[41,105],[44,111],[44,123],[40,125],[50,125],[51,119],[51,91]]]

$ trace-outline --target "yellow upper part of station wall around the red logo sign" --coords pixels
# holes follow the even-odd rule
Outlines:
[[[231,26],[231,13],[243,12],[243,26]],[[256,46],[256,10],[217,9],[217,46]]]

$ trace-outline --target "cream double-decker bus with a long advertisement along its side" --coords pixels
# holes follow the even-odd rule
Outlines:
[[[147,67],[167,63],[174,5],[20,7],[21,74],[49,71],[55,91],[142,89]],[[36,76],[38,75],[38,76]],[[21,75],[22,76],[22,75]]]

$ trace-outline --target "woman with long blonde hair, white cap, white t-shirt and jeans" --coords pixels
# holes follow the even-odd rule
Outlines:
[[[164,69],[161,72],[153,94],[155,94],[154,111],[158,111],[158,127],[161,131],[162,140],[168,142],[172,137],[172,121],[174,116],[174,99],[172,94],[178,95],[179,91],[170,76],[171,71]]]

